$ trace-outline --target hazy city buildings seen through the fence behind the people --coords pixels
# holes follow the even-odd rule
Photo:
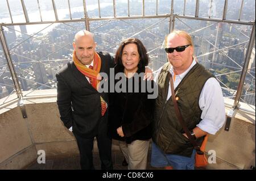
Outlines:
[[[104,11],[106,10],[108,10],[108,7],[102,8],[101,12],[104,13]],[[94,9],[92,12],[90,12],[90,14],[97,14],[97,9]],[[73,15],[80,16],[79,12]],[[144,27],[157,23],[160,20],[162,19],[137,19],[123,21],[112,20],[110,23],[106,24],[104,24],[106,21],[92,21],[90,23],[90,27],[92,27],[91,29],[93,30],[93,27],[97,28],[104,24],[104,26],[97,28],[97,31],[94,31],[94,34],[96,35],[96,41],[98,43],[97,50],[108,49],[110,53],[114,54],[116,48],[118,47],[118,43],[123,38],[132,36],[134,33],[138,32]],[[224,74],[227,73],[223,69],[228,69],[228,72],[232,72],[240,70],[242,68],[243,60],[245,58],[245,53],[247,49],[247,43],[243,44],[243,42],[248,41],[247,36],[250,36],[250,26],[246,27],[237,26],[236,24],[220,24],[214,22],[187,19],[182,19],[182,21],[176,21],[177,22],[175,22],[175,27],[181,30],[189,30],[190,32],[198,30],[201,27],[209,26],[209,28],[206,28],[205,31],[193,33],[192,37],[195,41],[195,54],[196,56],[199,56],[199,62],[203,64],[206,68],[213,70],[214,74],[220,74],[222,71]],[[133,24],[133,26],[131,26],[129,23]],[[9,31],[5,30],[5,36],[9,45],[9,49],[15,47],[17,43],[24,41],[24,43],[10,50],[11,58],[14,62],[15,70],[23,91],[56,88],[56,71],[59,70],[61,66],[71,60],[73,48],[71,44],[67,44],[73,41],[73,36],[75,35],[76,30],[81,30],[85,28],[84,23],[82,22],[67,24],[57,24],[46,35],[43,36],[42,34],[40,34],[35,36],[36,38],[34,37],[32,39],[28,39],[27,41],[24,41],[27,39],[27,35],[16,35],[14,31],[16,30],[16,27],[9,26]],[[166,56],[164,56],[165,53],[163,49],[154,49],[162,45],[164,36],[167,35],[169,31],[168,28],[168,19],[166,19],[162,20],[161,23],[157,23],[156,26],[149,28],[148,31],[143,31],[135,36],[142,40],[148,51],[153,50],[149,54],[151,59],[150,67],[153,70],[158,69],[160,66],[162,66],[161,64],[167,61]],[[19,29],[22,30],[22,32],[24,33],[27,32],[26,26],[19,26]],[[109,34],[109,32],[111,32],[111,35]],[[49,44],[45,44],[39,39],[43,39],[44,41],[49,42]],[[241,45],[235,46],[234,48],[229,48],[228,50],[222,50],[217,53],[211,53],[207,56],[202,56],[207,52],[212,52],[214,50],[222,49],[225,47],[229,47],[230,45],[236,44]],[[60,49],[65,45],[67,45],[67,47]],[[56,50],[58,49],[60,50],[56,52]],[[51,54],[52,52],[55,53]],[[51,54],[51,56],[47,56],[47,54]],[[3,57],[1,58],[1,60],[3,60]],[[254,68],[251,69],[250,74],[253,74],[255,77],[255,56],[250,63],[250,68]],[[2,72],[2,74],[0,77],[0,98],[3,97],[3,95],[9,95],[13,91],[13,86],[7,86],[5,87],[5,89],[3,88],[4,86],[1,86],[13,85],[13,83],[11,83],[12,80],[10,73],[8,73],[8,71],[6,70],[3,70],[7,68],[4,67],[4,65],[5,61],[1,61],[0,71]],[[233,75],[236,75],[236,73],[234,73]],[[232,80],[232,78],[234,77],[236,77],[236,79],[238,79],[239,81],[239,72],[238,77],[237,75],[233,77],[224,75],[217,78],[221,79],[221,81],[228,80],[228,82],[226,83],[229,83],[230,81],[234,82],[233,84],[229,83],[229,85],[232,86],[229,88],[234,89],[238,85],[237,80]],[[251,77],[251,75],[248,74],[247,77]],[[254,88],[252,90],[254,90],[255,98],[255,78],[253,79],[247,77],[246,81],[249,83],[247,86],[245,86],[244,92],[245,94],[246,92],[248,92],[248,87],[251,87],[252,82],[254,81]],[[225,87],[224,85],[221,86]],[[5,94],[3,94],[3,89],[5,91]],[[7,95],[6,90],[8,91]],[[232,96],[229,91],[223,92],[226,96]]]

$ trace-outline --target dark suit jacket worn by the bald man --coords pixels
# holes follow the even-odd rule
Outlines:
[[[113,57],[108,53],[98,54],[101,57],[100,72],[109,75],[109,69],[114,65]],[[100,96],[108,103],[108,94],[95,90],[73,61],[59,70],[56,78],[57,105],[65,127],[72,127],[73,132],[82,137],[94,137],[99,131],[105,131],[108,110],[102,117]]]

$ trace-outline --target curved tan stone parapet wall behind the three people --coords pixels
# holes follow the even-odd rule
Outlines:
[[[79,155],[75,137],[59,119],[56,102],[26,104],[26,112],[26,119],[19,107],[0,114],[0,169],[23,169],[36,161],[38,150],[46,151],[46,158]],[[113,149],[119,149],[116,142]],[[233,118],[229,132],[222,128],[209,136],[209,150],[215,151],[216,163],[207,169],[250,169],[255,166],[255,125]]]

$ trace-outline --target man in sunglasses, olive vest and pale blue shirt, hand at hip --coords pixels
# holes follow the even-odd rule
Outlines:
[[[201,144],[206,134],[216,134],[225,121],[220,84],[193,56],[193,42],[187,32],[175,30],[165,41],[168,62],[155,77],[158,83],[151,166],[166,169],[194,169],[195,149],[176,116],[170,78],[181,116]]]

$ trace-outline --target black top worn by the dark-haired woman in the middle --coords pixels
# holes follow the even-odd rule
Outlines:
[[[123,73],[118,65],[114,70],[115,75]],[[114,85],[119,82],[119,87],[126,91],[116,92],[115,90],[109,94],[109,135],[115,140],[126,141],[127,144],[134,140],[148,140],[152,135],[151,122],[154,115],[155,99],[148,99],[148,95],[153,92],[148,92],[147,84],[149,83],[152,88],[154,81],[143,82],[144,68],[139,68],[137,73],[142,73],[142,76],[138,78],[135,75],[129,79],[124,78],[126,87],[122,87],[120,84],[121,78],[115,79]],[[145,89],[141,89],[142,86]],[[120,137],[117,134],[117,128],[121,126],[125,137]]]

